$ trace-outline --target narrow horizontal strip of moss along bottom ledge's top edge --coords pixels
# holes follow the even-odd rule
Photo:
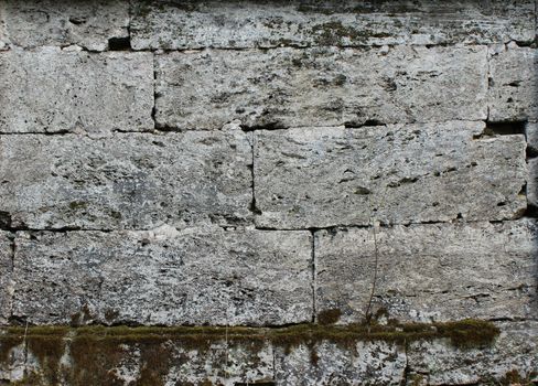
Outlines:
[[[46,340],[72,339],[121,342],[163,341],[222,341],[259,342],[277,345],[312,344],[322,341],[355,343],[358,341],[412,342],[418,340],[450,339],[461,347],[491,344],[499,333],[494,323],[482,320],[461,320],[438,323],[390,323],[379,324],[295,324],[282,328],[252,326],[7,326],[0,328],[2,341],[17,339]]]

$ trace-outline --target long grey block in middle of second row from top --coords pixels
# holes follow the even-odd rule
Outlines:
[[[161,54],[155,119],[179,129],[485,119],[486,56],[483,46]]]

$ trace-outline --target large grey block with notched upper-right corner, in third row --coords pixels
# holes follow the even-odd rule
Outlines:
[[[484,128],[449,121],[257,130],[256,223],[308,228],[368,225],[373,216],[384,224],[519,217],[525,138],[480,137]]]

